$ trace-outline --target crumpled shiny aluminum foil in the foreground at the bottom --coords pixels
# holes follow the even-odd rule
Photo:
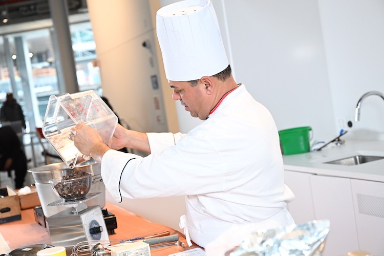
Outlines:
[[[329,233],[329,220],[314,220],[277,229],[260,230],[245,238],[225,256],[322,255]]]

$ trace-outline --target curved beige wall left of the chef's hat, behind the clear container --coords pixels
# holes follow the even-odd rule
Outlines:
[[[163,95],[148,1],[88,1],[103,94],[132,129],[166,132]],[[149,42],[150,48],[142,46]],[[157,75],[159,89],[152,88]],[[156,109],[155,98],[159,102]]]

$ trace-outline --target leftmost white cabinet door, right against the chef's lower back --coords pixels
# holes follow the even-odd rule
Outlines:
[[[285,171],[285,184],[293,191],[295,199],[288,204],[295,223],[302,224],[315,219],[310,176],[313,174]]]

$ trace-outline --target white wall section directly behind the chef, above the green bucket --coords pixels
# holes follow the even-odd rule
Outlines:
[[[279,130],[309,125],[315,138],[334,137],[317,2],[223,2],[237,81]]]

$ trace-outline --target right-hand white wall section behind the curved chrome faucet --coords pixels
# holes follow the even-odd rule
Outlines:
[[[384,102],[368,91],[384,93],[384,1],[318,1],[333,102],[333,116],[354,123],[350,136],[384,140]],[[346,135],[347,136],[347,135]]]

